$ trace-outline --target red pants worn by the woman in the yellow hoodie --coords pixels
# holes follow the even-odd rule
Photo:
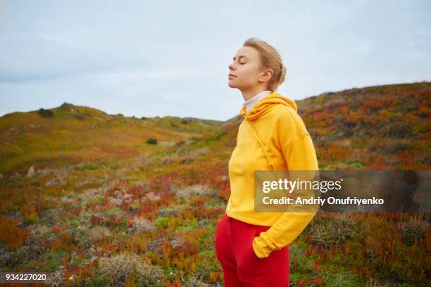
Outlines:
[[[215,232],[215,257],[223,267],[225,287],[289,286],[289,245],[259,258],[253,239],[270,227],[248,224],[225,213]]]

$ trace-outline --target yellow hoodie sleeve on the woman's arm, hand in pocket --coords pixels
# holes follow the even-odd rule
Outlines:
[[[304,122],[299,120],[299,115],[286,115],[287,122],[284,122],[283,128],[278,129],[277,136],[280,141],[280,147],[282,149],[283,156],[286,160],[289,174],[292,177],[294,174],[292,171],[295,170],[310,170],[318,171],[318,161],[316,157],[316,151],[313,146],[311,136],[306,132]],[[289,126],[290,125],[290,126]],[[296,127],[296,129],[295,129]],[[294,140],[292,134],[289,135],[293,130],[301,132]],[[305,180],[306,174],[307,179],[312,179],[316,173],[306,172],[299,173],[301,180]],[[311,175],[312,174],[312,175]],[[292,177],[296,178],[296,177]],[[295,195],[310,196],[310,191],[293,191]],[[303,194],[300,194],[303,193]],[[270,229],[265,232],[261,232],[260,236],[256,236],[253,241],[253,249],[257,257],[264,258],[268,257],[272,251],[280,250],[286,245],[290,245],[296,237],[301,234],[306,228],[311,219],[316,215],[318,205],[289,205],[289,212],[283,212],[282,216],[277,219]],[[294,212],[297,210],[298,212]]]

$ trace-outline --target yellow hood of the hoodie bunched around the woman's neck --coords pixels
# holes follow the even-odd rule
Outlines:
[[[277,105],[279,103],[298,111],[295,101],[273,91],[271,94],[261,98],[261,101],[258,101],[258,103],[249,110],[249,113],[246,112],[246,106],[242,106],[241,110],[239,110],[239,114],[246,120],[257,120],[262,115],[268,113],[273,105]]]

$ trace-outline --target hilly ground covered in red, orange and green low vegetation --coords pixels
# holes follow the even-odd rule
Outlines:
[[[430,99],[420,82],[296,103],[320,169],[430,170]],[[4,115],[1,271],[49,272],[60,286],[220,286],[215,227],[241,121],[68,103]],[[289,247],[291,285],[429,286],[430,231],[427,214],[319,212]]]

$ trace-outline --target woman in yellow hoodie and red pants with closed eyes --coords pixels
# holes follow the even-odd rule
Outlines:
[[[255,170],[317,170],[313,141],[296,103],[275,90],[286,68],[267,42],[250,38],[229,65],[229,87],[244,98],[229,161],[231,194],[215,234],[225,286],[289,286],[289,245],[312,212],[255,212]]]

